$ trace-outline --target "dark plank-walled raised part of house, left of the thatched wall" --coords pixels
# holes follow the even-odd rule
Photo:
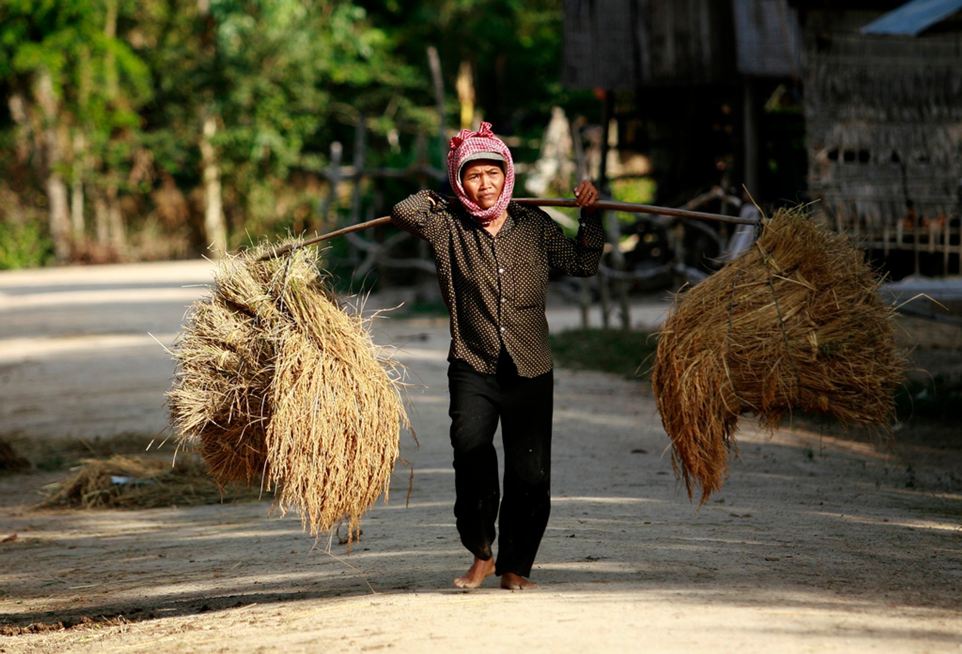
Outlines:
[[[762,107],[799,67],[797,18],[786,0],[564,6],[563,83],[606,91],[620,148],[651,159],[660,201],[684,202],[706,186],[759,189],[768,167]],[[614,94],[626,101],[611,102]]]

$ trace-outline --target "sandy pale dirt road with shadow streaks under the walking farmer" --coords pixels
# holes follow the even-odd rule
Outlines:
[[[162,344],[210,269],[0,273],[0,431],[163,433],[173,370]],[[655,324],[664,309],[634,316]],[[577,316],[549,320],[561,329]],[[741,461],[696,512],[650,391],[594,372],[556,373],[541,588],[454,589],[469,561],[451,515],[446,325],[388,318],[378,330],[421,387],[421,444],[402,437],[408,505],[398,467],[349,556],[297,516],[268,517],[269,502],[37,512],[36,490],[62,473],[0,476],[0,541],[17,535],[0,542],[0,634],[15,634],[0,635],[0,652],[962,652],[957,447],[827,430],[770,438],[746,421]]]

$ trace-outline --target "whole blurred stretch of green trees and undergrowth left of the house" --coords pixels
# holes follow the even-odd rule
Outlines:
[[[552,107],[598,112],[561,87],[562,19],[560,0],[5,0],[0,268],[382,215],[442,181],[353,189],[332,163],[443,169],[482,117],[534,160]]]

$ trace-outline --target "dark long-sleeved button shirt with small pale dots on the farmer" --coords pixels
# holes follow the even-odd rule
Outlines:
[[[548,266],[575,277],[595,274],[604,246],[598,214],[583,212],[577,237],[568,239],[542,210],[512,202],[494,237],[459,203],[422,190],[394,207],[392,221],[434,248],[451,314],[449,361],[494,374],[503,344],[522,376],[551,369],[544,317]]]

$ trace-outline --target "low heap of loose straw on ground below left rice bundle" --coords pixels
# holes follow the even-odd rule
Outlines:
[[[88,459],[44,491],[46,498],[38,504],[43,509],[149,509],[257,497],[251,491],[226,493],[196,456],[173,466],[121,455]]]

